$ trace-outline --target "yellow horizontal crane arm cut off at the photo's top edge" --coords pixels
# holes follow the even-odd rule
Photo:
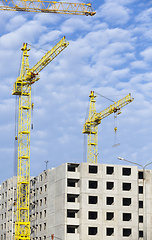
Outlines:
[[[68,3],[48,0],[1,0],[0,10],[25,11],[25,12],[44,12],[73,15],[90,15],[96,12],[91,3]]]

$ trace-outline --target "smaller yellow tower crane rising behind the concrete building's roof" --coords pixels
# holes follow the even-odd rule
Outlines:
[[[105,110],[97,113],[95,107],[94,92],[91,91],[90,94],[90,106],[89,106],[89,116],[85,121],[83,126],[83,133],[87,134],[87,161],[89,163],[97,163],[98,156],[98,125],[101,120],[108,117],[110,114],[115,113],[119,115],[121,113],[121,108],[131,103],[134,99],[129,93],[126,97],[120,99],[114,104],[110,105]]]

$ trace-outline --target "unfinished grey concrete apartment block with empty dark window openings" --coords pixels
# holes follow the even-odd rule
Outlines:
[[[1,240],[14,234],[12,182],[0,190]],[[151,170],[65,163],[32,178],[30,189],[32,240],[152,239]]]

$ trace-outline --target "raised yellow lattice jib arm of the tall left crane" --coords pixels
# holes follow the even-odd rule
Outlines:
[[[37,75],[45,68],[58,54],[60,54],[67,46],[69,42],[63,37],[50,51],[48,51],[41,60],[34,65],[25,76],[25,80],[32,80],[32,83],[37,81]]]

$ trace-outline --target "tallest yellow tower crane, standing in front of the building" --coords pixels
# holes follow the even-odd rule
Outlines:
[[[17,168],[17,219],[15,240],[30,239],[29,192],[30,192],[30,131],[31,85],[39,79],[39,72],[67,46],[65,37],[33,67],[29,68],[27,44],[23,44],[20,76],[14,83],[13,95],[19,96],[18,117],[18,168]]]

